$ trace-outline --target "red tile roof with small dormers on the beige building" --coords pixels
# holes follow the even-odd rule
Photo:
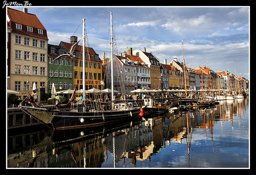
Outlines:
[[[19,10],[7,8],[7,15],[10,19],[10,27],[12,28],[13,33],[28,35],[32,37],[47,39],[47,31],[45,27],[42,25],[40,20],[36,15],[31,13],[24,13]],[[16,29],[16,23],[22,24],[22,30]],[[33,33],[27,31],[27,26],[33,27]],[[38,30],[43,30],[43,35],[38,34]]]

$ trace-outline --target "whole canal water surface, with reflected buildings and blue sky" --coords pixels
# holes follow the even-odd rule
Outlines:
[[[249,168],[249,98],[97,129],[8,134],[8,168]]]

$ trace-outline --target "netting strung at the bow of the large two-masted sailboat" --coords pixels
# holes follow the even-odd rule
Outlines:
[[[34,110],[34,109],[29,109],[27,108],[27,111],[35,116],[36,118],[44,121],[45,123],[51,123],[52,119],[54,117],[54,112],[48,112],[48,111],[43,111],[43,110]]]

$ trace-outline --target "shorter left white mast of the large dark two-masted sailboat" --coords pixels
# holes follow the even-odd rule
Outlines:
[[[86,39],[86,35],[84,34],[84,21],[85,19],[83,18],[82,19],[82,104],[83,104],[83,112],[86,112],[86,108],[85,108],[85,105],[84,105],[84,102],[85,102],[85,99],[86,99],[86,95],[85,95],[85,89],[86,89],[86,79],[85,79],[85,51],[84,51],[84,41]]]

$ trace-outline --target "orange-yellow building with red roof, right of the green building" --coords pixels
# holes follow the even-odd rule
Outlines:
[[[69,52],[73,42],[77,42],[77,37],[71,37],[71,43],[60,42],[60,46]],[[85,48],[86,62],[85,62],[85,85],[86,90],[96,88],[102,90],[102,60],[96,54],[92,47]],[[75,59],[73,66],[74,88],[82,89],[82,46],[76,45],[74,49]]]

